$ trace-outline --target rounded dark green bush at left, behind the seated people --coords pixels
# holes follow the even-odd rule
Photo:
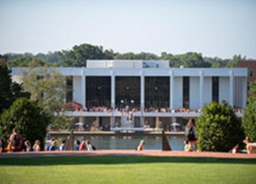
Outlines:
[[[24,140],[32,144],[39,140],[44,148],[44,139],[49,118],[34,102],[18,98],[13,105],[0,116],[0,133],[7,140],[13,128],[17,129]]]

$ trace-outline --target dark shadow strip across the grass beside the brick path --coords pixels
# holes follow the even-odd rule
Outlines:
[[[0,158],[0,166],[55,166],[82,164],[134,164],[134,163],[228,163],[256,164],[256,159],[143,157],[143,156],[91,156],[91,157],[41,157]]]

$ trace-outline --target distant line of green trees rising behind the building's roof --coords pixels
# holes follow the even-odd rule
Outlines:
[[[170,67],[179,68],[223,68],[235,67],[240,60],[246,60],[241,54],[235,54],[232,58],[222,59],[220,57],[203,57],[198,52],[187,52],[185,54],[171,54],[162,52],[160,55],[151,52],[114,52],[112,49],[103,49],[103,46],[93,46],[83,43],[74,46],[71,50],[48,52],[47,54],[7,53],[3,55],[7,64],[13,66],[53,66],[53,67],[82,67],[86,66],[86,60],[169,60]]]

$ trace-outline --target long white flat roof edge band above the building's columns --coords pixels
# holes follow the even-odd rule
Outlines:
[[[12,75],[21,76],[22,71],[29,68],[13,67]],[[33,68],[38,70],[39,68]],[[59,71],[64,76],[151,76],[151,77],[248,77],[247,68],[75,68],[60,67],[49,68],[52,71]]]

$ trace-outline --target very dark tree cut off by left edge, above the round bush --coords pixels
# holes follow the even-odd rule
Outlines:
[[[12,82],[11,71],[5,63],[0,63],[0,114],[9,108],[18,97],[30,97],[30,93],[22,91],[21,85]]]

